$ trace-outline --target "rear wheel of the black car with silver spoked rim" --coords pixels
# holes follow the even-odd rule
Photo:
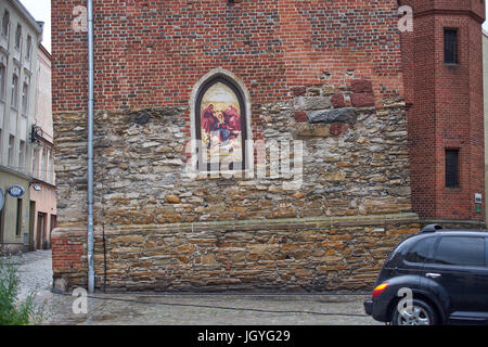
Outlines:
[[[423,300],[413,299],[411,310],[400,312],[394,309],[393,325],[436,325],[437,316],[432,306]]]

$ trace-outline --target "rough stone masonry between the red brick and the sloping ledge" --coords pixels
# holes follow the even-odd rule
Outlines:
[[[296,191],[269,176],[188,177],[188,107],[99,112],[95,222],[165,224],[411,211],[403,103],[378,110],[333,108],[332,99],[322,92],[253,105],[254,132],[268,145],[304,141],[303,184]],[[301,112],[308,121],[298,119]],[[59,226],[84,224],[85,115],[56,114],[55,133]],[[269,162],[268,152],[268,170]]]

